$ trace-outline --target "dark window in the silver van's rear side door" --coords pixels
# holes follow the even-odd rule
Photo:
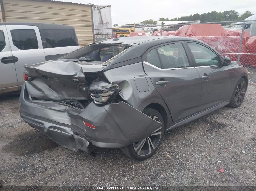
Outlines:
[[[20,50],[38,49],[38,41],[34,29],[11,30],[12,43]]]

